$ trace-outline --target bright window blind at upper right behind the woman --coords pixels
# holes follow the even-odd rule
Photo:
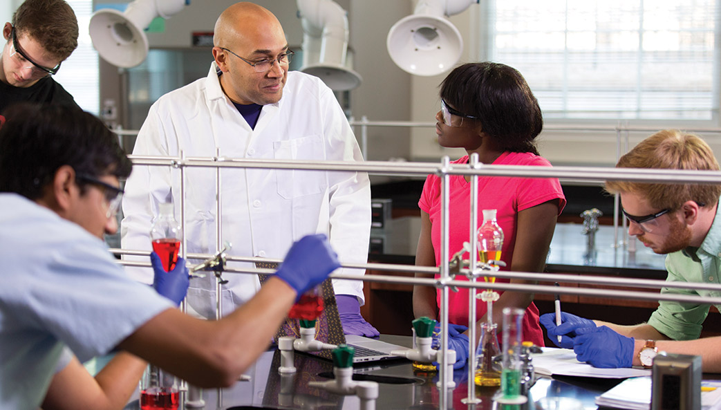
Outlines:
[[[482,55],[517,68],[544,117],[712,120],[718,0],[490,0]]]

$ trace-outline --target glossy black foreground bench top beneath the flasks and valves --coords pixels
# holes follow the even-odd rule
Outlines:
[[[383,335],[381,340],[410,347],[411,338]],[[248,381],[239,381],[229,388],[204,389],[205,406],[202,409],[244,410],[244,409],[360,409],[357,396],[338,396],[318,388],[309,388],[309,381],[326,381],[333,378],[332,362],[302,353],[294,355],[296,373],[280,375],[280,351],[263,353],[246,375]],[[467,368],[454,371],[456,388],[449,391],[448,409],[467,409],[461,400],[468,396]],[[379,383],[379,397],[376,409],[438,409],[439,391],[435,383],[438,373],[418,373],[405,359],[376,362],[365,367],[355,367],[354,380],[368,380]],[[596,409],[596,396],[608,391],[621,380],[598,378],[539,378],[528,394],[526,405],[513,406],[514,410],[535,409],[534,403],[543,397],[570,397],[583,404],[583,409]],[[497,388],[474,388],[480,403],[477,410],[502,409],[495,406],[492,396]],[[188,407],[186,407],[188,408]],[[137,410],[137,399],[131,401],[125,410]],[[188,408],[189,409],[189,408]],[[510,407],[508,409],[511,409]]]

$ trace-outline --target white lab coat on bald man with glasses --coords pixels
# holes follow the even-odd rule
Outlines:
[[[222,91],[213,63],[208,77],[152,105],[133,154],[179,156],[182,150],[186,157],[214,157],[216,148],[221,156],[236,159],[363,161],[340,105],[317,77],[288,72],[283,97],[262,107],[252,130]],[[216,169],[186,169],[187,252],[218,250],[215,175]],[[123,249],[150,250],[151,219],[159,202],[172,198],[180,221],[179,195],[178,169],[134,166],[123,199]],[[341,263],[367,261],[371,189],[364,172],[221,169],[221,202],[221,240],[231,242],[231,255],[283,259],[293,241],[327,233]],[[136,280],[153,280],[149,268],[127,271]],[[363,270],[342,273],[363,275]],[[226,273],[224,279],[229,280],[223,290],[224,314],[260,286],[255,275]],[[214,315],[215,282],[213,275],[190,282],[190,305],[206,317]],[[363,282],[335,280],[333,285],[337,294],[355,295],[363,304]]]

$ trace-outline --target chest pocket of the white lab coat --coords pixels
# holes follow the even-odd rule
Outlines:
[[[320,135],[293,138],[273,143],[275,159],[293,159],[302,161],[322,161],[323,142]],[[278,195],[286,199],[304,197],[323,192],[326,186],[325,171],[277,169],[275,178]]]

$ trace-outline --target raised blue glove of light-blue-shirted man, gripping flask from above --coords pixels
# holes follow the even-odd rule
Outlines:
[[[338,255],[330,247],[328,237],[317,233],[304,236],[291,246],[275,276],[296,290],[298,300],[339,267]]]

